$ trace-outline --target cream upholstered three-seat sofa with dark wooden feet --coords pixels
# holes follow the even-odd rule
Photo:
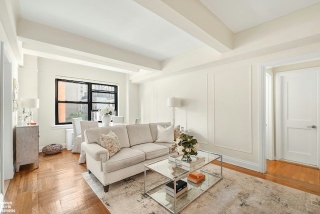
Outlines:
[[[170,142],[159,142],[157,124],[166,127],[171,122],[104,126],[84,131],[81,153],[85,152],[88,172],[102,183],[105,192],[109,184],[144,171],[144,164],[173,155],[174,136]],[[118,137],[121,147],[111,157],[107,149],[96,143],[101,134],[110,130]]]

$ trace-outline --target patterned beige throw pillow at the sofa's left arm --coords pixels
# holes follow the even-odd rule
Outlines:
[[[119,139],[113,131],[109,131],[108,134],[101,134],[98,144],[108,149],[109,157],[113,156],[121,148]]]

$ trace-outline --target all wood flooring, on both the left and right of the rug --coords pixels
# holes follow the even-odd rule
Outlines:
[[[86,165],[79,164],[78,158],[78,153],[65,149],[52,155],[40,153],[39,168],[27,164],[14,173],[5,201],[12,201],[15,213],[110,213],[80,175]],[[283,161],[267,161],[264,174],[227,163],[223,167],[320,195],[318,168]]]

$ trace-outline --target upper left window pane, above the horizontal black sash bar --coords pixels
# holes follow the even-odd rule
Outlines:
[[[88,94],[87,84],[58,81],[59,101],[83,101],[86,102]]]

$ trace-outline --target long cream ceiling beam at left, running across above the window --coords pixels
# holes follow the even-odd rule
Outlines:
[[[83,60],[83,56],[86,56],[88,57],[88,61],[94,58],[99,60],[102,58],[105,61],[115,64],[130,64],[150,70],[161,69],[161,63],[157,59],[23,18],[18,21],[17,36],[22,42],[33,43],[35,45],[38,45],[40,42],[42,45],[50,45],[51,48],[59,50],[59,54],[61,54],[61,51],[65,51],[65,54],[72,53],[75,60]],[[30,48],[29,45],[24,46],[25,48]],[[81,57],[76,58],[77,56]]]

